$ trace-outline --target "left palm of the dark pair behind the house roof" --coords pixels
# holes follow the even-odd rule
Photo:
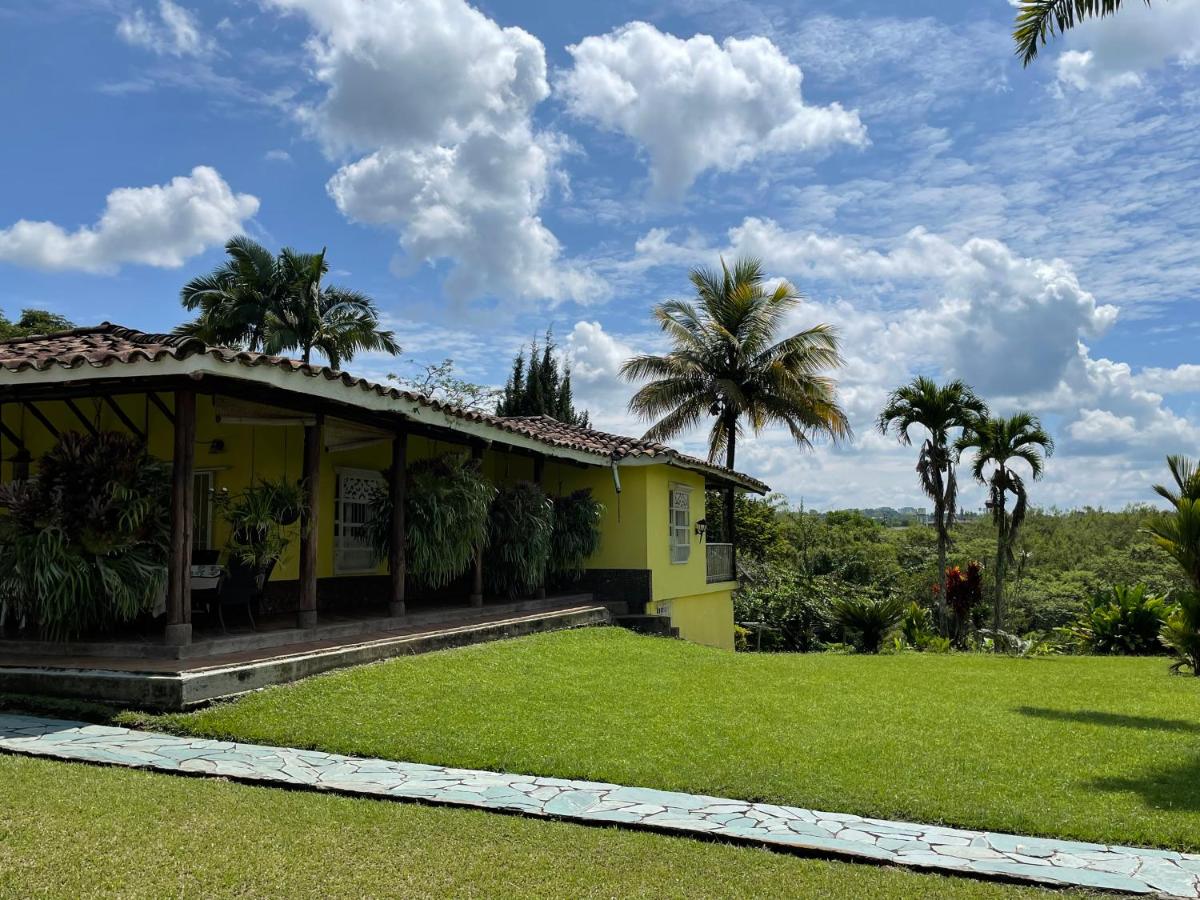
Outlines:
[[[226,244],[226,254],[224,263],[179,292],[184,307],[199,314],[175,332],[214,346],[260,350],[270,318],[283,308],[292,289],[288,274],[271,251],[244,235]]]

